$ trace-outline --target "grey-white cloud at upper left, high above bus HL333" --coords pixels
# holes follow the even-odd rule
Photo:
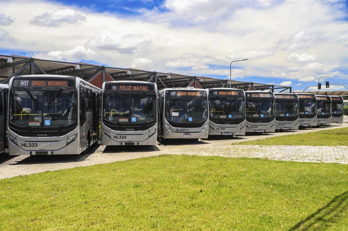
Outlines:
[[[54,10],[53,12],[45,12],[38,15],[30,23],[38,26],[54,27],[63,23],[76,24],[78,21],[84,21],[85,17],[72,9]]]

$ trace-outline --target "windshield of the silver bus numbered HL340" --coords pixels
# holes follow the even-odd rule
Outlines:
[[[209,96],[209,116],[214,119],[242,119],[245,117],[242,97]]]

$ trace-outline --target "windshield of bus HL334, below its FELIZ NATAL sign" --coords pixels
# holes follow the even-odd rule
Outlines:
[[[113,123],[148,123],[156,119],[156,94],[104,93],[103,119]]]

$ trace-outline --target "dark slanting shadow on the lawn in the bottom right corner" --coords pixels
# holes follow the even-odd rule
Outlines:
[[[309,215],[306,219],[295,224],[292,230],[321,230],[332,224],[338,223],[338,218],[343,211],[348,209],[348,191],[334,197],[327,205]]]

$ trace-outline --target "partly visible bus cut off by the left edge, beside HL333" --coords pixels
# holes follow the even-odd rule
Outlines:
[[[8,85],[0,84],[0,154],[7,150],[6,132],[6,106],[7,106]]]

